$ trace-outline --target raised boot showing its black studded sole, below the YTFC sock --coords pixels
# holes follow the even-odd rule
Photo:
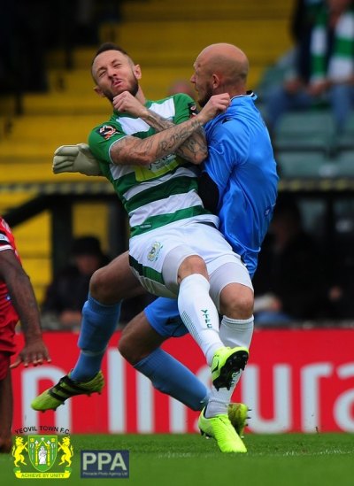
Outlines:
[[[235,374],[244,369],[248,359],[247,348],[219,348],[212,357],[212,384],[216,390],[230,390]]]

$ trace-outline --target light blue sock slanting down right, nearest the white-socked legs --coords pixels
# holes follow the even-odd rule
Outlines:
[[[196,375],[161,349],[152,351],[134,366],[147,376],[154,387],[192,410],[202,410],[208,403],[208,390]]]

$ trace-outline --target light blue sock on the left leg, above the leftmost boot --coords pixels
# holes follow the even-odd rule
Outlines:
[[[78,346],[79,359],[70,378],[88,382],[101,369],[104,352],[114,333],[120,316],[121,303],[103,305],[89,295],[82,309]]]

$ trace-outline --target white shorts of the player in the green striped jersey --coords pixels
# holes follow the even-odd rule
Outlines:
[[[182,261],[204,259],[211,282],[211,297],[219,306],[219,293],[228,283],[253,289],[250,274],[218,229],[188,220],[137,235],[129,242],[129,262],[144,289],[160,297],[178,296],[178,269]],[[218,302],[218,304],[217,304]]]

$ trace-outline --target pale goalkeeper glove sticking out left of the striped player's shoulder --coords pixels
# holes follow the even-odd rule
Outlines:
[[[54,152],[53,173],[79,172],[84,175],[102,175],[98,160],[87,143],[62,145]]]

